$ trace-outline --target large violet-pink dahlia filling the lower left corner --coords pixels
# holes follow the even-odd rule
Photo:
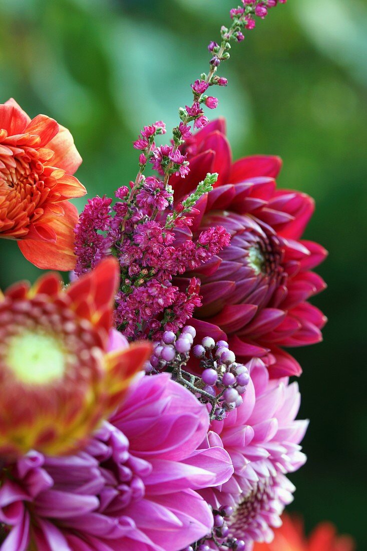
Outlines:
[[[179,551],[205,536],[213,515],[196,490],[233,473],[222,447],[198,449],[208,426],[168,374],[143,377],[84,451],[2,466],[0,550]]]

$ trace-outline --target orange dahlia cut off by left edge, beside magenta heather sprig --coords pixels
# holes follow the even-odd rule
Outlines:
[[[75,266],[78,212],[68,199],[85,194],[72,176],[81,162],[71,133],[53,118],[31,120],[13,99],[0,105],[0,237],[18,240],[39,268]]]

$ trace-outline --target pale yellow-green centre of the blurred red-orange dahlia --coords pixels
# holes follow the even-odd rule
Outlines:
[[[51,334],[25,332],[9,342],[6,363],[17,378],[29,385],[42,385],[61,379],[67,355],[62,342]]]

